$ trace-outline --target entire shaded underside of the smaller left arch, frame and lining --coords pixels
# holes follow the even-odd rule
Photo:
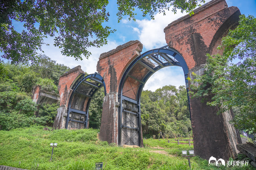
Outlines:
[[[89,75],[82,73],[76,78],[75,83],[71,86],[73,91],[67,108],[66,129],[88,128],[90,101],[102,87],[104,87],[104,94],[106,95],[104,79],[98,73]]]

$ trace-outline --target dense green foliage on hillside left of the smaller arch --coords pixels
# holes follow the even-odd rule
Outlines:
[[[58,93],[51,78],[55,78],[58,84],[57,76],[69,67],[56,64],[47,56],[40,56],[40,59],[36,67],[11,65],[9,62],[3,64],[7,74],[5,78],[0,78],[0,129],[24,128],[34,124],[53,126],[59,104],[38,107],[31,99],[31,91],[38,84],[43,90]],[[35,111],[38,111],[38,117],[34,116]]]

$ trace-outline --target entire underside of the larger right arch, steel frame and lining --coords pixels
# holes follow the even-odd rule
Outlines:
[[[182,67],[188,86],[188,67],[179,52],[169,46],[149,50],[134,59],[125,70],[118,91],[118,144],[143,145],[141,132],[141,92],[148,80],[159,69],[168,66]],[[188,97],[189,112],[190,101]]]

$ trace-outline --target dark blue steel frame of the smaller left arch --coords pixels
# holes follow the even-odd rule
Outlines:
[[[93,81],[96,81],[98,82],[97,84],[100,84],[100,85],[97,85],[97,84],[94,84],[94,83],[91,83],[91,82],[88,82],[86,81],[87,79],[90,79],[90,80],[93,80]],[[89,92],[89,95],[86,95],[86,94],[82,94],[82,93],[79,93],[81,95],[84,95],[85,97],[89,97],[88,99],[88,102],[86,104],[86,111],[80,111],[80,110],[77,110],[77,109],[73,109],[71,108],[71,103],[72,103],[72,100],[75,96],[75,93],[78,93],[76,92],[77,88],[79,87],[79,85],[82,83],[82,82],[86,82],[89,86],[92,86],[92,89],[90,90]],[[65,129],[68,128],[68,123],[69,121],[75,121],[75,122],[79,122],[79,123],[84,123],[84,128],[87,127],[87,124],[88,124],[88,115],[89,115],[89,106],[90,106],[90,102],[91,102],[91,99],[92,97],[94,96],[94,94],[100,89],[104,87],[104,94],[106,96],[106,84],[104,82],[104,79],[102,78],[102,76],[98,73],[94,73],[94,74],[89,74],[89,75],[85,75],[85,74],[82,74],[78,79],[77,81],[73,84],[73,86],[71,87],[71,89],[73,90],[73,92],[71,93],[71,96],[69,97],[69,103],[68,103],[68,108],[67,108],[67,119],[66,119],[66,124],[65,124]],[[96,90],[95,90],[96,89]],[[81,121],[77,121],[77,120],[71,120],[71,118],[69,118],[69,114],[70,112],[75,112],[75,113],[79,113],[79,114],[84,114],[86,116],[86,118],[84,119],[84,122],[81,122]]]

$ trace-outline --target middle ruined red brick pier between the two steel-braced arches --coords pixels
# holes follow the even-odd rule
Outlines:
[[[107,95],[104,97],[100,139],[118,144],[118,86],[129,63],[140,55],[142,44],[129,41],[100,55],[97,71],[104,78]]]

